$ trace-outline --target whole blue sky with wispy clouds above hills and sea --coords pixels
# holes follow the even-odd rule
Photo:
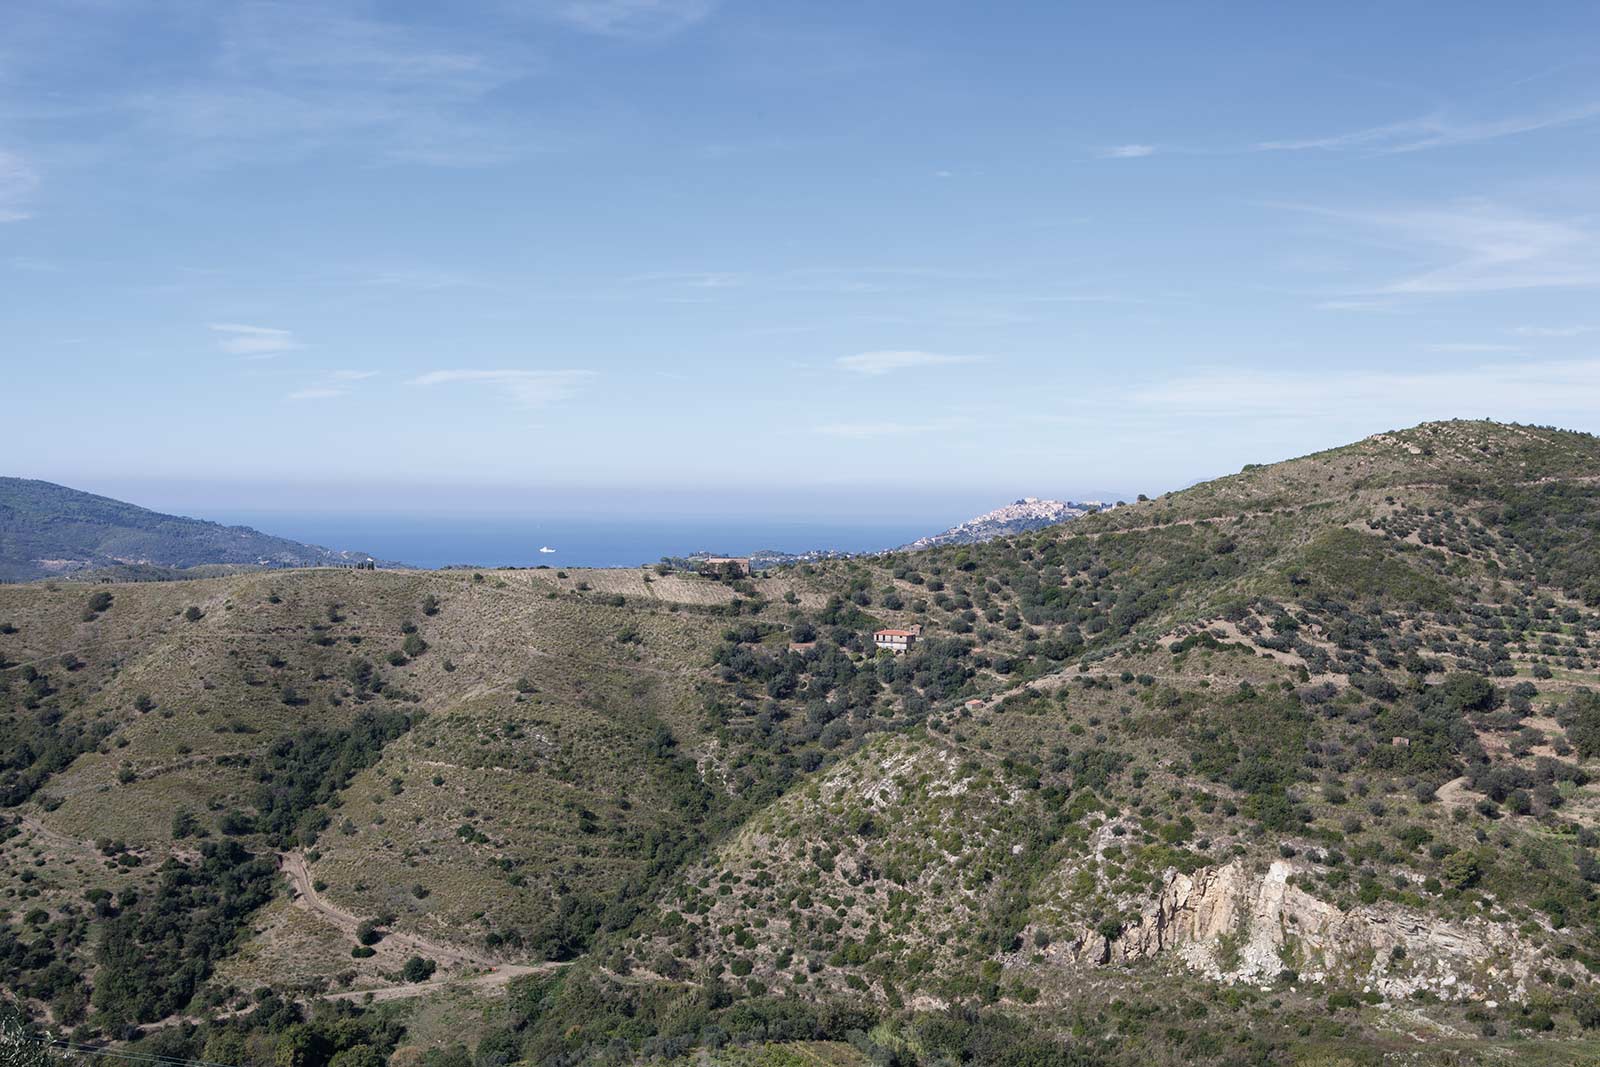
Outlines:
[[[1597,40],[1459,0],[11,0],[6,474],[848,512],[1600,430]]]

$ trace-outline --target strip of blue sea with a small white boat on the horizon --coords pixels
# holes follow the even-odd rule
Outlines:
[[[411,566],[638,566],[664,555],[714,552],[749,555],[762,549],[882,552],[938,533],[962,517],[925,522],[842,520],[650,520],[344,515],[232,510],[202,514],[219,523],[254,526],[278,537],[328,549],[366,552]],[[555,552],[539,552],[541,547]]]

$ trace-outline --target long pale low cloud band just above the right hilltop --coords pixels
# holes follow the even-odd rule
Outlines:
[[[1126,403],[1163,416],[1328,419],[1362,413],[1403,426],[1493,414],[1547,421],[1600,410],[1600,360],[1502,362],[1477,366],[1338,373],[1216,370],[1134,389]]]

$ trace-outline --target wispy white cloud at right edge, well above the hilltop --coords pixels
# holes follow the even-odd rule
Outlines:
[[[1600,286],[1600,234],[1587,219],[1560,219],[1485,200],[1382,211],[1298,206],[1362,227],[1390,248],[1437,262],[1368,293],[1389,296]]]

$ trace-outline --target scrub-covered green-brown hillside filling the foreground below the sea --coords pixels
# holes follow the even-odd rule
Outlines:
[[[885,624],[922,638],[875,653]],[[0,981],[83,1038],[310,1067],[1600,1048],[1592,437],[1427,424],[731,582],[59,582],[0,587]]]

